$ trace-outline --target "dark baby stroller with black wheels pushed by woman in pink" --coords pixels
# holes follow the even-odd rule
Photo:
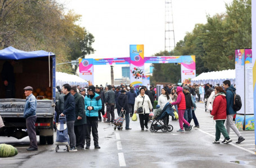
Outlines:
[[[167,117],[169,117],[169,115],[174,116],[173,111],[172,105],[169,104],[169,102],[165,104],[163,110],[160,108],[156,109],[154,114],[155,118],[150,126],[150,131],[157,132],[161,129],[163,132],[171,132],[173,130],[173,126],[168,125]]]

